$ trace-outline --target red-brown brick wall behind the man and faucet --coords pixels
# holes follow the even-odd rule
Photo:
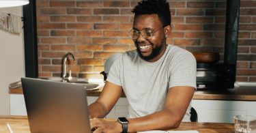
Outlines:
[[[218,52],[223,57],[226,0],[169,1],[171,38],[191,52]],[[71,52],[72,76],[103,78],[104,61],[134,49],[128,30],[137,1],[37,0],[39,76],[60,76],[61,61]],[[237,77],[256,81],[256,1],[241,0]]]

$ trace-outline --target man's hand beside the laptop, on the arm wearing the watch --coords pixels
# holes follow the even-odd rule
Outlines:
[[[97,132],[122,132],[122,125],[117,121],[106,121],[104,119],[90,119],[91,130]]]

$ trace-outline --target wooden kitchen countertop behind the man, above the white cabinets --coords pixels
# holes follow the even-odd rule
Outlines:
[[[99,96],[101,89],[87,91],[89,96]],[[10,93],[22,94],[22,88],[10,89]],[[125,97],[123,94],[122,97]],[[238,100],[256,101],[255,87],[235,87],[234,89],[197,89],[193,99],[195,100]]]

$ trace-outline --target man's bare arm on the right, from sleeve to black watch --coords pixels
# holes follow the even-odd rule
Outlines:
[[[177,128],[186,113],[194,92],[195,88],[193,87],[170,88],[165,100],[165,108],[145,117],[128,119],[128,132]]]

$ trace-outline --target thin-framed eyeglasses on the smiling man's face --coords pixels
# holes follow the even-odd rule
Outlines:
[[[164,28],[164,27],[162,27],[162,28]],[[162,29],[162,28],[160,28],[160,29]],[[139,34],[141,34],[143,36],[143,38],[148,39],[148,38],[152,37],[154,35],[154,33],[159,31],[160,29],[157,29],[156,31],[152,31],[152,29],[143,29],[141,31],[138,31],[136,29],[131,29],[128,33],[129,33],[130,37],[132,37],[133,40],[136,40],[137,38],[139,38]]]

